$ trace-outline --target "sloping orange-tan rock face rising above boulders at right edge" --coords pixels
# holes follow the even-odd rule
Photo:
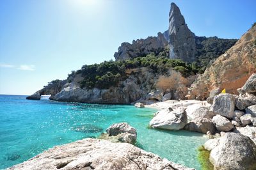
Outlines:
[[[187,97],[202,100],[209,97],[212,89],[226,89],[237,94],[246,80],[256,72],[256,25],[249,29],[237,43],[199,75]]]

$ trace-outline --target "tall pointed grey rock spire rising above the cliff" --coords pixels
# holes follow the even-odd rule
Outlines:
[[[189,30],[175,3],[171,4],[169,13],[169,38],[170,58],[182,59],[189,63],[195,61],[195,34]]]

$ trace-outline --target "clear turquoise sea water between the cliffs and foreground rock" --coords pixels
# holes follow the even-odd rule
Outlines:
[[[26,100],[0,95],[0,169],[19,164],[52,146],[97,137],[112,123],[128,122],[137,129],[144,150],[173,162],[200,169],[196,149],[202,134],[147,128],[156,110],[132,105],[102,105]]]

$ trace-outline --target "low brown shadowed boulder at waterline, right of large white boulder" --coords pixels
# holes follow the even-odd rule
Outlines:
[[[216,131],[214,124],[209,118],[198,118],[194,121],[191,121],[184,127],[184,129],[193,132],[200,132],[203,134],[206,134],[207,132],[214,134]]]

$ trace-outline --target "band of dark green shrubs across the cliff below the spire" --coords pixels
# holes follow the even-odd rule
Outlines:
[[[184,77],[195,75],[198,69],[195,65],[184,63],[180,59],[168,59],[166,57],[156,57],[151,53],[143,58],[134,58],[125,61],[104,61],[95,65],[84,65],[81,70],[72,72],[69,77],[81,73],[83,81],[80,82],[81,88],[99,88],[107,89],[111,86],[117,86],[118,82],[127,79],[127,69],[132,68],[150,68],[153,73],[165,75],[171,68],[182,73]],[[70,81],[71,82],[71,81]]]

